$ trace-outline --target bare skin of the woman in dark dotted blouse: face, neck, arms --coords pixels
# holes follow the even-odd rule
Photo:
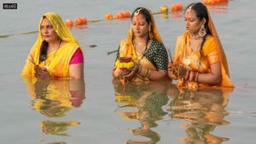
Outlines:
[[[134,15],[131,20],[131,28],[133,32],[133,46],[141,54],[145,52],[150,47],[152,39],[149,39],[148,26],[151,26],[151,23],[148,23],[143,14]],[[148,44],[147,44],[148,42]],[[148,46],[145,49],[146,45]],[[125,76],[126,79],[131,79],[135,76],[139,69],[139,66],[135,62],[135,66],[131,68],[131,73]],[[167,70],[160,71],[150,71],[149,79],[153,81],[162,80],[166,78]]]

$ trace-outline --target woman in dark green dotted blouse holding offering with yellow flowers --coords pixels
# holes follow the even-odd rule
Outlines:
[[[130,64],[120,65],[130,58]],[[132,81],[160,81],[167,77],[168,55],[149,9],[137,8],[131,14],[128,37],[121,40],[113,77]],[[125,71],[124,71],[125,68]]]

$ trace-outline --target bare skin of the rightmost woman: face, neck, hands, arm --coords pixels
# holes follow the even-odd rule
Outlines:
[[[206,23],[206,19],[204,18],[202,20],[199,20],[195,14],[195,10],[193,10],[193,9],[190,11],[187,11],[184,16],[185,28],[186,28],[186,31],[188,31],[190,34],[196,35],[199,32],[201,26],[204,25],[205,23]],[[208,34],[206,36],[206,40],[209,37],[211,37],[211,35]],[[193,49],[194,52],[199,51],[201,48],[201,43],[203,41],[203,38],[202,37],[200,37],[200,38],[190,37],[189,39],[190,39],[189,43],[190,43],[191,49]],[[171,66],[172,66],[172,64],[169,64],[169,66],[168,66],[168,70],[169,70],[168,76],[170,78],[176,79],[176,77],[172,75]],[[198,83],[219,84],[221,82],[221,64],[220,64],[220,62],[218,62],[216,64],[212,64],[210,67],[211,67],[211,72],[199,74],[198,79],[197,79]],[[185,77],[185,74],[186,74],[186,70],[182,68],[180,71],[180,75]]]

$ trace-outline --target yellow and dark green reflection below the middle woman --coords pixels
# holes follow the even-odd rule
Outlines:
[[[166,96],[165,84],[148,83],[148,84],[121,84],[119,81],[113,81],[116,95],[116,101],[122,103],[119,107],[118,114],[124,119],[137,119],[142,126],[139,128],[128,129],[132,134],[148,137],[149,141],[129,140],[125,143],[144,143],[154,144],[160,141],[160,135],[150,130],[158,124],[155,121],[162,119],[166,112],[161,107],[168,102]],[[134,109],[137,109],[135,111]]]

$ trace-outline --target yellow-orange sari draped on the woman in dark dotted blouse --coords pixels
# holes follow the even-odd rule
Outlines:
[[[158,31],[156,30],[153,14],[151,13],[151,11],[149,9],[147,9],[147,10],[148,10],[149,14],[151,15],[151,23],[152,23],[152,27],[151,27],[152,31],[149,33],[149,35],[153,39],[162,43],[162,39],[161,39]],[[119,57],[131,57],[132,60],[138,62],[138,65],[148,68],[148,70],[156,71],[156,67],[147,58],[145,58],[143,56],[143,54],[141,54],[136,49],[134,49],[133,44],[132,44],[132,39],[133,39],[133,32],[132,32],[132,26],[131,26],[130,30],[128,32],[128,37],[121,40],[121,42],[120,42]],[[133,78],[133,80],[148,81],[149,79],[143,78],[137,74],[137,77]]]

